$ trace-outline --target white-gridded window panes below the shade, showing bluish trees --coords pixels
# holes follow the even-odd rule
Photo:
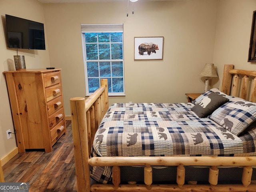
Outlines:
[[[108,79],[108,92],[124,93],[122,35],[122,32],[84,34],[89,93],[99,87],[100,78]]]

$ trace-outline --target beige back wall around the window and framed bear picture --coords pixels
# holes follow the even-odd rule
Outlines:
[[[132,4],[130,4],[132,5]],[[186,92],[202,92],[198,76],[213,60],[216,0],[44,4],[52,66],[62,68],[64,104],[85,96],[80,24],[124,23],[126,96],[114,102],[186,102]],[[134,61],[134,37],[164,36],[163,60]]]

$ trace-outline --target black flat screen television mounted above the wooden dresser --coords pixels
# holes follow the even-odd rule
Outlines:
[[[9,48],[45,50],[43,23],[5,16]]]

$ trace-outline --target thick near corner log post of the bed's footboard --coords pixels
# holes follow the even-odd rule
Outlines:
[[[76,182],[78,192],[90,192],[90,170],[88,166],[88,138],[85,98],[70,99]]]

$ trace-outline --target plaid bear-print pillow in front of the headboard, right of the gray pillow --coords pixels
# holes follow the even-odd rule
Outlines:
[[[256,103],[241,98],[231,98],[216,109],[209,118],[238,136],[256,120]]]

